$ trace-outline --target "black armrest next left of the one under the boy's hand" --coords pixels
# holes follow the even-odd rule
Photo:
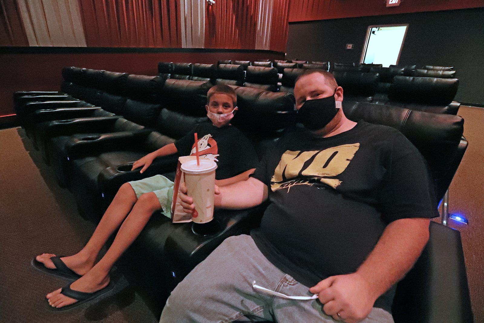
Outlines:
[[[96,156],[113,150],[136,150],[148,137],[150,129],[102,133],[94,138],[69,138],[65,143],[68,159]]]

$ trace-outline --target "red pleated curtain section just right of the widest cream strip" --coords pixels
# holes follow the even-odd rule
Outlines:
[[[181,47],[179,1],[79,0],[88,47]]]

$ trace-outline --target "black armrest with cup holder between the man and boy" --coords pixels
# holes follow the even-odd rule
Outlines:
[[[248,234],[251,229],[259,226],[267,205],[268,202],[265,202],[245,210],[215,210],[212,222],[218,223],[219,230],[213,235],[197,235],[192,231],[192,222],[177,224],[180,227],[168,236],[165,244],[173,273],[181,280],[227,237]]]

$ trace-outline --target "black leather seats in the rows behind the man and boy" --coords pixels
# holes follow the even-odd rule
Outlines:
[[[254,63],[235,61],[233,63]],[[307,68],[254,66],[241,64],[193,64],[160,62],[158,76],[164,79],[207,81],[212,84],[247,86],[265,91],[294,92],[296,79]],[[268,62],[257,62],[272,64]],[[276,62],[277,63],[277,62]],[[281,63],[292,64],[292,63]],[[294,63],[296,65],[296,63]],[[313,64],[314,65],[314,64]],[[286,66],[286,65],[285,65]],[[282,72],[279,74],[278,72]],[[434,113],[457,114],[460,103],[454,101],[459,80],[409,76],[411,67],[371,66],[367,71],[333,71],[344,96],[351,101],[371,102],[406,107]],[[278,74],[281,76],[278,78]]]

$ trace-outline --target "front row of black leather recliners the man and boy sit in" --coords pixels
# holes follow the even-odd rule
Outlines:
[[[204,105],[210,82],[77,67],[63,68],[62,76],[61,91],[16,92],[15,112],[60,184],[74,194],[80,213],[93,222],[123,183],[155,174],[172,178],[177,159],[160,158],[143,174],[131,171],[133,161],[208,122]],[[262,158],[294,127],[294,96],[233,87],[239,107],[233,125]],[[391,126],[407,136],[428,162],[435,193],[442,198],[467,147],[461,117],[348,100],[343,109],[351,120]],[[154,214],[120,267],[161,312],[174,286],[225,238],[256,227],[265,207],[216,210],[211,232]],[[398,285],[395,322],[470,322],[459,233],[436,223],[430,231],[431,242]]]

